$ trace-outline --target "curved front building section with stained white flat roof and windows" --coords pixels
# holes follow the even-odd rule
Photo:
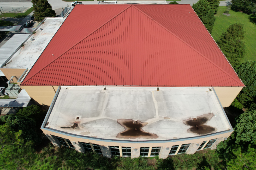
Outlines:
[[[210,87],[60,86],[41,129],[55,146],[132,158],[215,149],[233,132]]]

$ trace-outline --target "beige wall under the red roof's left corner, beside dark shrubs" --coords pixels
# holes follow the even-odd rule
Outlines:
[[[58,86],[20,86],[25,89],[35,104],[50,106]]]

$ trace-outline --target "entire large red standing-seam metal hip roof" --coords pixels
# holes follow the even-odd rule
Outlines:
[[[189,4],[76,5],[21,84],[244,87]]]

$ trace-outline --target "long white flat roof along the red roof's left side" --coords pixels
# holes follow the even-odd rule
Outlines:
[[[3,68],[31,68],[66,18],[47,18]],[[29,35],[29,34],[20,34]]]

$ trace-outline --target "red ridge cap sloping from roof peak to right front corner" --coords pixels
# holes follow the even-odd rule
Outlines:
[[[210,63],[212,63],[215,67],[217,67],[218,69],[220,69],[221,71],[223,71],[225,74],[227,74],[229,77],[231,77],[231,79],[233,79],[234,81],[236,81],[237,83],[239,83],[240,85],[244,86],[244,84],[241,84],[241,82],[238,82],[237,80],[235,80],[235,78],[233,76],[231,76],[229,73],[227,73],[226,71],[224,71],[223,69],[221,69],[219,66],[217,66],[214,62],[212,62],[208,57],[205,57],[203,54],[201,54],[198,50],[194,49],[191,45],[189,45],[188,43],[186,43],[184,40],[182,40],[180,37],[178,37],[177,35],[175,35],[173,32],[171,32],[170,30],[168,30],[167,28],[165,28],[162,24],[160,24],[159,22],[157,22],[155,19],[153,19],[152,17],[150,17],[149,15],[147,15],[145,12],[143,12],[142,10],[138,9],[137,7],[135,7],[135,5],[132,5],[134,8],[136,8],[137,10],[139,10],[140,12],[142,12],[142,14],[146,15],[147,17],[149,17],[150,19],[152,19],[152,21],[154,21],[155,23],[157,23],[158,25],[160,25],[162,28],[164,28],[165,30],[167,30],[170,34],[174,35],[176,38],[178,38],[180,41],[182,41],[184,44],[186,44],[188,47],[190,47],[191,49],[193,49],[195,52],[197,52],[199,55],[201,55],[202,57],[204,57],[206,60],[208,60]],[[191,7],[192,8],[192,7]],[[200,18],[199,18],[200,19]],[[201,21],[201,20],[200,20]],[[205,28],[206,29],[206,28]]]

